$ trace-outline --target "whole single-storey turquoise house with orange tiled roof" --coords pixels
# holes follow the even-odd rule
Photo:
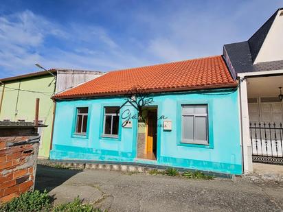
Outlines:
[[[50,158],[242,174],[237,85],[222,56],[111,71],[54,97]]]

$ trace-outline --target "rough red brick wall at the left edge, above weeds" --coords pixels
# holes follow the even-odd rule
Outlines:
[[[30,137],[0,137],[0,203],[34,189],[38,143],[7,147]]]

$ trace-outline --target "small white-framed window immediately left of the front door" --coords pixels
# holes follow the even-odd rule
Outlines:
[[[103,134],[107,137],[118,137],[120,107],[104,107]]]

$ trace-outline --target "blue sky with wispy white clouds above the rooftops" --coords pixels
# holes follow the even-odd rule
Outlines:
[[[1,0],[0,78],[46,69],[111,71],[222,54],[279,0]]]

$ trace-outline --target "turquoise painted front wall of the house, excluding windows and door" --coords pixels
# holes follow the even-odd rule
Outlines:
[[[102,134],[104,106],[120,106],[124,98],[100,98],[58,102],[54,127],[52,159],[137,161],[156,163],[205,171],[242,174],[240,126],[238,119],[238,91],[218,93],[172,93],[154,95],[152,105],[158,106],[158,116],[172,120],[172,130],[157,129],[157,161],[137,159],[137,120],[133,128],[122,128],[121,114],[133,106],[124,106],[120,111],[120,133],[117,139],[106,139]],[[207,104],[210,145],[182,144],[181,104]],[[73,135],[76,107],[89,106],[87,135]],[[162,125],[159,119],[158,125]]]

